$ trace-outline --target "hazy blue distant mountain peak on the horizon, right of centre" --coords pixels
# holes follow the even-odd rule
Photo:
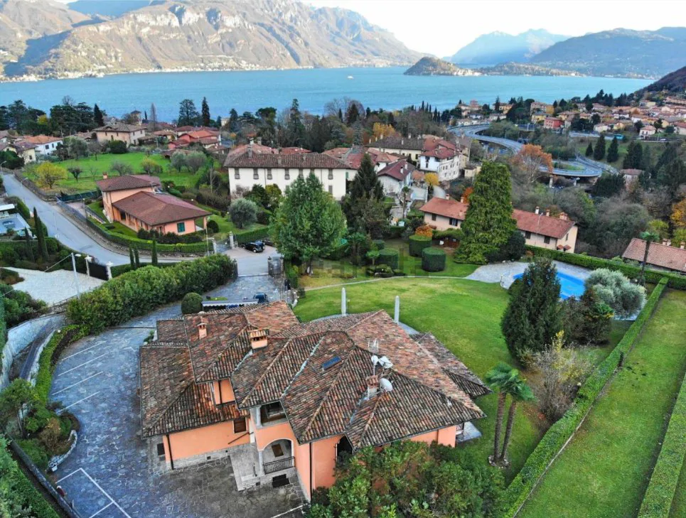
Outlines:
[[[445,59],[458,65],[480,67],[508,62],[527,63],[542,50],[566,39],[567,36],[552,34],[545,29],[532,29],[515,36],[502,32],[488,33]]]

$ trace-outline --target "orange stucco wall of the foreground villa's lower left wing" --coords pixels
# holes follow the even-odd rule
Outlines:
[[[177,460],[247,444],[250,442],[250,435],[246,432],[234,433],[233,421],[227,421],[202,428],[193,428],[193,430],[171,433],[169,434],[169,441],[166,439],[165,436],[163,441],[164,453],[167,462],[169,462],[171,458],[168,443],[171,443],[173,460]]]

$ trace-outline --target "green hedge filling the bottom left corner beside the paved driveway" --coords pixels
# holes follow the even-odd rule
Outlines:
[[[11,457],[7,441],[0,436],[0,509],[9,514],[30,518],[60,518]]]

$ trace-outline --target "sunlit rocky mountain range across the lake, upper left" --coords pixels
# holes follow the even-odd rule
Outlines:
[[[109,11],[112,18],[102,1],[76,4],[87,14],[53,0],[0,0],[4,75],[389,66],[421,57],[353,11],[295,0],[162,0]]]

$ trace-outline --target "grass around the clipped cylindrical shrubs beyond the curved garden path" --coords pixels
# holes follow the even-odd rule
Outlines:
[[[452,260],[452,252],[446,249],[446,269],[444,271],[424,271],[422,270],[422,258],[409,255],[409,245],[402,239],[392,239],[386,242],[387,249],[395,249],[400,253],[398,266],[406,275],[417,276],[446,276],[446,277],[466,277],[478,268],[476,264],[458,264]],[[355,266],[350,263],[350,259],[341,261],[323,260],[314,266],[311,276],[303,276],[300,285],[303,288],[316,288],[319,286],[330,286],[332,284],[346,284],[350,282],[364,281],[370,279],[365,274],[366,266]],[[346,279],[347,277],[347,279]]]

